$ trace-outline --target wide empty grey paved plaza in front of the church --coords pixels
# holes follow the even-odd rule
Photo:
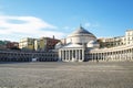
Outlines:
[[[133,62],[0,64],[1,88],[133,88]]]

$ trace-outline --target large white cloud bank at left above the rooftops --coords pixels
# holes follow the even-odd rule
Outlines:
[[[52,36],[60,38],[64,35],[58,28],[35,16],[0,15],[0,40],[19,41],[22,37]]]

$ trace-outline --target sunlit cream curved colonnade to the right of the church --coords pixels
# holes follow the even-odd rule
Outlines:
[[[133,45],[123,45],[112,48],[91,50],[85,53],[89,61],[133,61]]]

